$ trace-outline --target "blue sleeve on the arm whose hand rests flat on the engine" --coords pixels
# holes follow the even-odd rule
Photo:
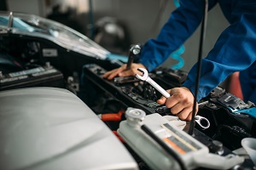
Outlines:
[[[156,39],[143,46],[140,62],[154,70],[185,42],[200,25],[204,8],[202,0],[181,0],[180,7],[172,12]]]

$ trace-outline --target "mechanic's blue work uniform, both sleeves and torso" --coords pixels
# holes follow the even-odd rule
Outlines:
[[[256,104],[256,1],[209,0],[208,10],[219,4],[230,22],[218,37],[207,57],[202,59],[200,88],[197,100],[235,71],[240,71],[241,90],[245,101]],[[203,0],[180,0],[156,39],[143,46],[140,62],[154,70],[185,42],[201,24]],[[189,71],[184,87],[195,94],[196,64]]]

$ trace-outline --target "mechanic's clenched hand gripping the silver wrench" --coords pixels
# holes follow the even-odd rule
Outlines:
[[[194,95],[189,88],[172,88],[167,90],[171,96],[166,99],[162,96],[157,100],[160,105],[166,104],[167,108],[171,108],[173,115],[177,115],[181,120],[190,121],[192,119],[192,110],[194,103]],[[198,111],[198,104],[196,103],[196,111]]]

